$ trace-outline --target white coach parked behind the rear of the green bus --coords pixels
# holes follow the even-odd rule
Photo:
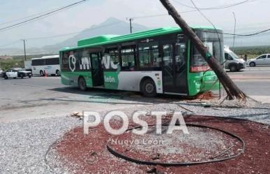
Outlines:
[[[31,61],[33,75],[61,75],[59,55],[33,58]]]

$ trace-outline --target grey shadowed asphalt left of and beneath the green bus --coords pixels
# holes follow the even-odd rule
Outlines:
[[[158,100],[145,99],[128,92],[89,89],[81,92],[61,85],[59,77],[0,79],[0,122],[25,118],[64,117],[83,110],[117,110],[152,104]],[[126,96],[123,97],[123,94]]]

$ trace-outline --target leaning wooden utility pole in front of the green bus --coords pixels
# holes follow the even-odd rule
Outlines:
[[[207,47],[204,46],[200,38],[195,34],[195,32],[188,27],[188,24],[183,20],[183,18],[179,15],[177,10],[172,6],[169,0],[160,0],[163,6],[168,10],[169,15],[172,15],[174,21],[177,22],[179,27],[183,30],[183,34],[186,34],[192,43],[195,45],[195,48],[200,52],[202,57],[204,57],[205,61],[209,64],[210,68],[216,73],[218,76],[218,80],[220,80],[223,85],[225,91],[227,92],[228,99],[246,99],[246,94],[244,94],[237,85],[234,84],[232,79],[230,79],[229,75],[223,69],[218,61],[211,55],[211,53],[207,50]]]

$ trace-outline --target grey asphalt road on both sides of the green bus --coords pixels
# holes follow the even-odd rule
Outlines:
[[[248,67],[228,74],[243,92],[258,101],[270,103],[270,66]],[[102,89],[80,92],[75,87],[61,85],[59,77],[0,79],[0,89],[0,122],[63,117],[82,110],[117,110],[170,100],[163,96],[149,99],[134,92]]]

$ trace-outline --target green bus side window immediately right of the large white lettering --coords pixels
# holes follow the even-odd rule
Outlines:
[[[122,48],[121,50],[121,69],[122,70],[129,70],[134,71],[135,67],[135,56],[134,56],[134,49],[133,47],[126,47]]]

